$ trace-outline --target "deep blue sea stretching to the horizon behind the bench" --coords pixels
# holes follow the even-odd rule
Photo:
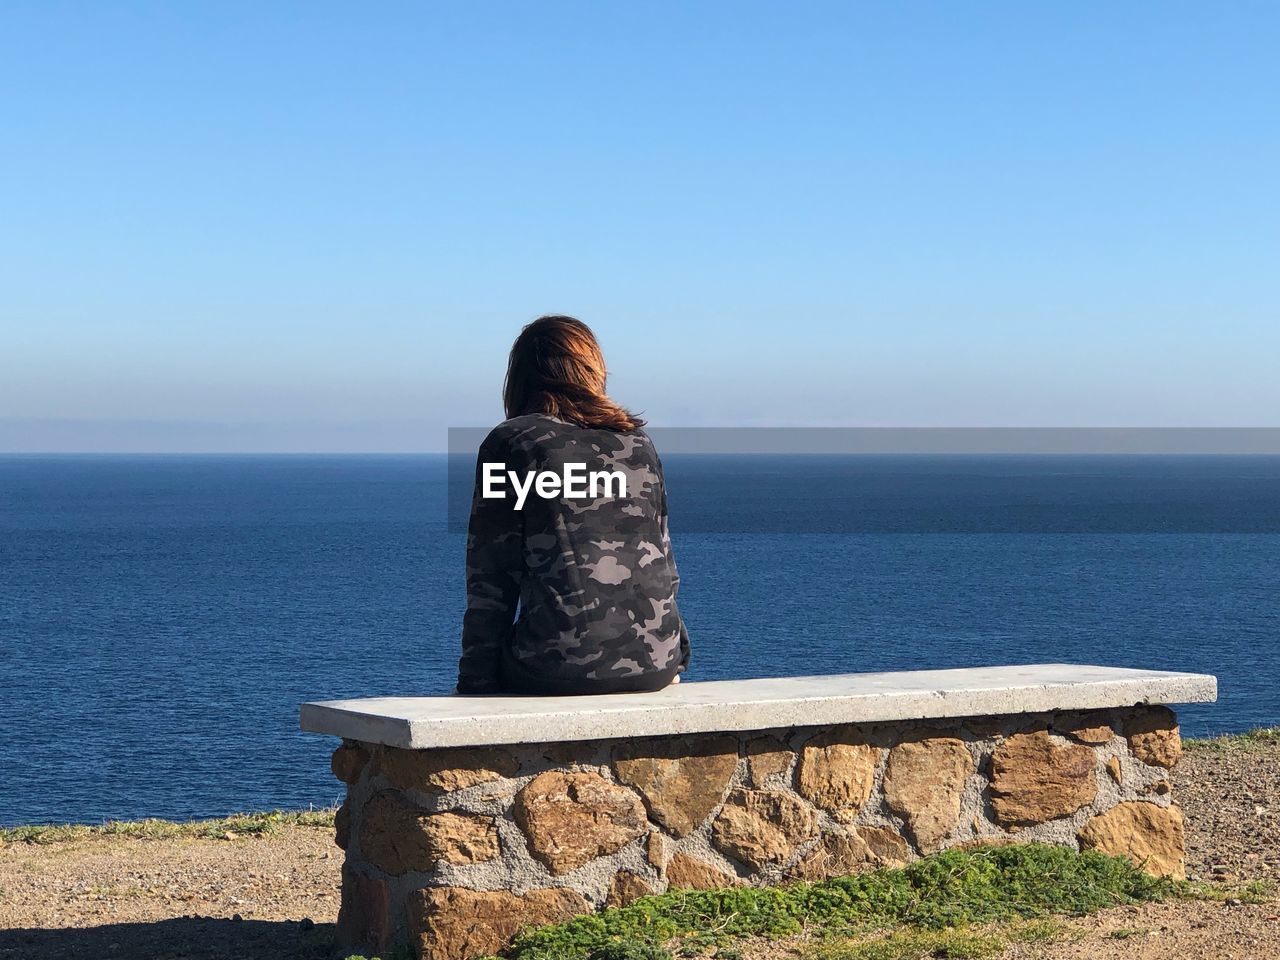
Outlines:
[[[0,824],[335,801],[301,701],[452,687],[445,475],[0,457]],[[1277,458],[668,457],[667,481],[691,680],[1074,660],[1219,675],[1189,733],[1280,721]]]

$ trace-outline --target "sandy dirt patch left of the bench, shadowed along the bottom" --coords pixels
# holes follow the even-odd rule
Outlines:
[[[0,957],[328,956],[340,868],[333,831],[316,827],[0,845]]]

